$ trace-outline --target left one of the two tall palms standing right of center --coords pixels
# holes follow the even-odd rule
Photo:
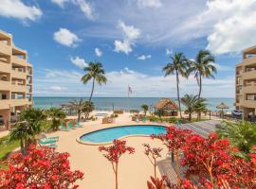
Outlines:
[[[165,77],[169,75],[176,76],[178,107],[179,107],[180,118],[182,118],[180,98],[179,98],[179,75],[181,75],[182,77],[188,77],[189,60],[187,60],[187,58],[183,55],[183,53],[175,53],[174,57],[171,57],[171,59],[172,59],[172,62],[168,63],[163,68],[163,72],[165,73],[164,74]]]

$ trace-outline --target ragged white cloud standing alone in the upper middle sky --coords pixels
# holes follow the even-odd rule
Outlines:
[[[135,26],[126,26],[122,21],[119,21],[118,27],[123,32],[124,39],[123,41],[115,41],[115,51],[128,55],[133,51],[132,46],[135,45],[137,39],[141,36],[141,30]]]

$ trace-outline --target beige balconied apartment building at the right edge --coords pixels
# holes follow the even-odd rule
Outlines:
[[[235,106],[244,118],[256,115],[256,45],[243,51],[243,62],[236,65]]]

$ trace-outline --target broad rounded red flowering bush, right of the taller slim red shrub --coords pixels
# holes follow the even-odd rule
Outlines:
[[[182,165],[187,167],[186,176],[197,175],[210,178],[213,185],[218,179],[226,179],[231,172],[229,140],[218,139],[215,133],[208,139],[197,134],[187,137],[183,146],[184,159]]]

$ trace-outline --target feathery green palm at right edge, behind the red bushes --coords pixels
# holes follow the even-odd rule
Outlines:
[[[229,138],[232,146],[237,146],[243,157],[256,145],[256,124],[250,122],[223,122],[217,133],[221,138]]]

